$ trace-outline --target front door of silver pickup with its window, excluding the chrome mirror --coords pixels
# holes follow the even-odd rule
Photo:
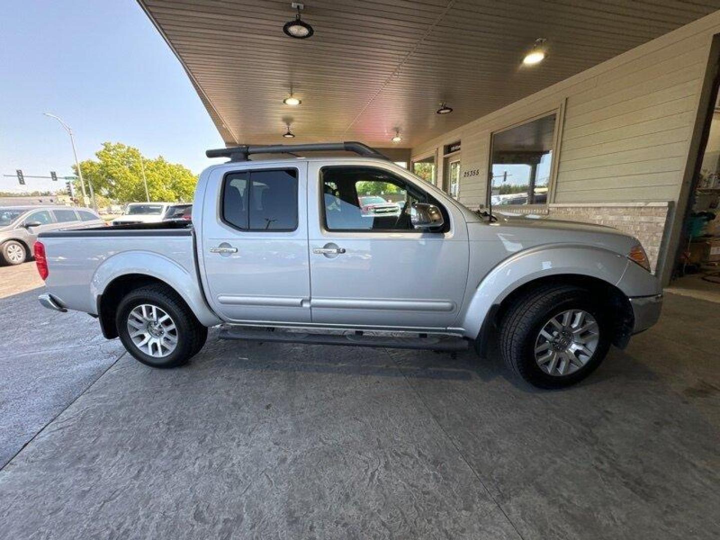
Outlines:
[[[414,229],[413,202],[440,206],[444,228]],[[420,182],[391,166],[311,162],[308,235],[313,323],[441,329],[456,320],[467,225]]]

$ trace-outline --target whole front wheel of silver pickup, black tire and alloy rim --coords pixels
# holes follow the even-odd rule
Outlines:
[[[603,302],[580,287],[549,285],[513,301],[500,328],[505,364],[535,387],[568,387],[608,354],[612,325]]]

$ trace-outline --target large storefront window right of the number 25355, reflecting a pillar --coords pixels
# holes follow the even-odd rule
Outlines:
[[[546,204],[557,114],[492,134],[492,206]]]

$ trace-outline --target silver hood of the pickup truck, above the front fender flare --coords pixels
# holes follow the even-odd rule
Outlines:
[[[496,222],[488,223],[487,220],[469,222],[467,226],[471,240],[487,239],[487,228],[490,228],[498,240],[506,244],[515,243],[516,248],[513,251],[543,244],[572,243],[595,246],[626,256],[630,248],[639,243],[631,235],[606,225],[550,220],[542,217],[499,215]]]

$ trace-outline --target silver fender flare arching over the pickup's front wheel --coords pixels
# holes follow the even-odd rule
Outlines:
[[[477,284],[460,314],[459,326],[465,336],[476,338],[492,306],[500,305],[511,292],[535,279],[575,274],[617,286],[628,264],[628,259],[618,253],[587,245],[536,246],[514,253]]]

